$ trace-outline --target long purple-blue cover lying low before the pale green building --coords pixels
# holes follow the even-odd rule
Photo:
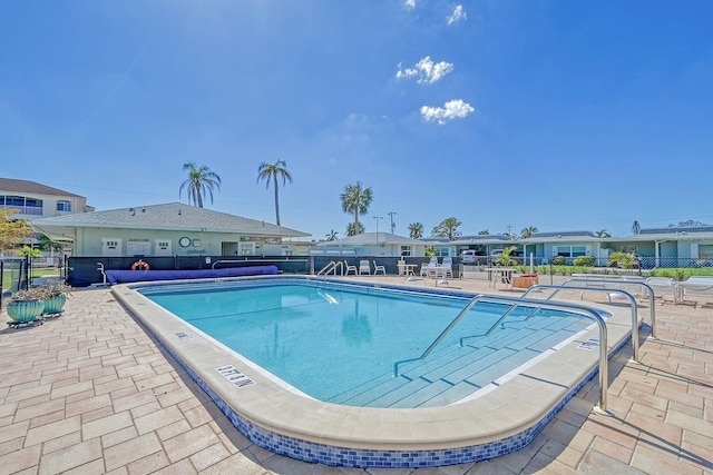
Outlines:
[[[139,283],[146,280],[205,279],[221,277],[261,276],[277,274],[276,266],[232,267],[228,269],[195,270],[106,270],[110,284]]]

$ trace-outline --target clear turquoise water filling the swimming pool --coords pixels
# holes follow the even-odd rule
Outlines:
[[[455,403],[590,323],[518,308],[486,336],[509,306],[477,304],[427,358],[401,364],[394,377],[394,364],[418,358],[466,298],[289,280],[140,291],[303,393],[368,407]]]

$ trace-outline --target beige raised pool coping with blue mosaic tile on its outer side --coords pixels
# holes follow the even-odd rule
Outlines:
[[[369,287],[363,283],[350,284]],[[213,342],[206,340],[202,335],[196,334],[189,343],[175,338],[177,330],[191,333],[193,327],[177,321],[162,307],[139,296],[134,287],[136,284],[118,285],[113,287],[111,291],[124,308],[211,396],[231,422],[257,445],[307,462],[354,467],[418,467],[458,464],[504,455],[529,444],[598,369],[597,358],[593,357],[597,352],[579,352],[575,354],[587,363],[580,377],[575,378],[577,383],[569,388],[557,388],[558,385],[551,382],[528,377],[528,374],[538,370],[541,373],[541,368],[535,365],[502,384],[494,392],[497,395],[489,394],[466,403],[414,409],[340,406],[287,392],[232,355],[229,358],[221,356],[222,349],[216,348]],[[379,287],[404,288],[388,285]],[[418,288],[407,289],[419,291]],[[146,303],[154,307],[149,319],[141,316],[145,309],[137,308],[147,305]],[[587,306],[600,309],[597,305]],[[631,318],[626,309],[619,310],[606,307],[606,311],[613,314],[609,318],[612,354],[626,344],[631,336]],[[616,334],[614,338],[613,333]],[[584,339],[588,336],[590,335],[585,335]],[[188,364],[187,359],[192,358],[186,358],[186,352],[189,353],[192,348],[195,350],[198,346],[205,353],[202,358]],[[563,352],[559,357],[565,356],[566,352]],[[211,363],[213,357],[223,358],[222,363]],[[553,355],[549,358],[556,357],[557,355]],[[549,358],[546,359],[549,360],[549,366],[559,364]],[[236,389],[215,370],[217,366],[231,364],[229,362],[255,380],[256,384],[251,385],[250,390]],[[504,392],[515,397],[506,402],[502,397]],[[543,399],[533,404],[538,397]],[[514,403],[517,403],[519,414],[504,414],[504,407],[511,409]],[[496,425],[505,427],[494,429]]]

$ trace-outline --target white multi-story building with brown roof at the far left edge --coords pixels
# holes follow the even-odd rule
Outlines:
[[[0,208],[17,209],[17,218],[30,220],[94,211],[84,196],[12,178],[0,178]]]

